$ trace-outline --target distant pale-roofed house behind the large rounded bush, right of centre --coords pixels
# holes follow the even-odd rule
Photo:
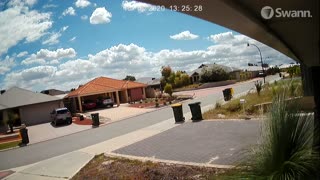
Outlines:
[[[231,79],[240,80],[241,70],[238,68],[224,66],[220,64],[201,64],[196,70],[193,70],[191,73],[188,74],[190,76],[191,83],[194,84],[194,83],[200,82],[200,76],[203,69],[214,68],[214,67],[221,68],[226,73],[229,73],[229,75],[231,76]]]

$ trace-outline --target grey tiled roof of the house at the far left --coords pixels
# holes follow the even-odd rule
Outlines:
[[[54,96],[13,87],[0,95],[0,110],[59,100]]]

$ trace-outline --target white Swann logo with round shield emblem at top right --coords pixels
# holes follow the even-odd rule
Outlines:
[[[273,10],[270,6],[265,6],[261,9],[261,16],[264,19],[276,18],[311,18],[311,12],[309,10],[284,10],[276,8]]]

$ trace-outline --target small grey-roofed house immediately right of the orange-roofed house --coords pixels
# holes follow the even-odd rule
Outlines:
[[[161,90],[160,78],[143,77],[136,80],[136,82],[147,84],[146,97],[155,98],[156,91]]]

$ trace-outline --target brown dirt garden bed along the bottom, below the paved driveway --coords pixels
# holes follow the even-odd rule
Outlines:
[[[96,156],[72,179],[213,179],[226,170]]]

